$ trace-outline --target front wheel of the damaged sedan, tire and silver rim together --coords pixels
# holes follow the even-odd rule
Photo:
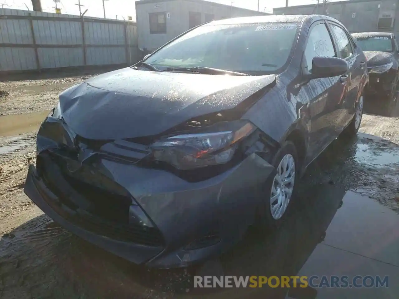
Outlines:
[[[269,178],[262,193],[265,200],[261,203],[257,219],[260,230],[279,226],[286,218],[296,189],[297,162],[294,144],[290,141],[284,142],[272,160],[277,173]]]

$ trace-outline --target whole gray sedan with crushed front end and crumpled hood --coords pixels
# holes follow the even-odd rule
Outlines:
[[[277,227],[299,177],[356,134],[365,57],[326,16],[214,21],[59,96],[25,193],[81,238],[148,267]]]

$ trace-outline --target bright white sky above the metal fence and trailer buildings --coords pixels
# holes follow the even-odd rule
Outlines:
[[[75,4],[78,0],[59,0],[58,8],[61,8],[63,14],[79,15],[79,7]],[[210,0],[209,0],[210,1]],[[257,10],[258,0],[211,0],[221,4]],[[332,0],[336,1],[336,0]],[[162,0],[160,0],[162,2]],[[322,2],[322,0],[320,0]],[[105,0],[105,14],[107,18],[127,20],[131,16],[136,20],[136,12],[134,9],[134,0]],[[32,10],[31,0],[0,0],[0,5],[4,8],[16,8],[27,10],[27,7]],[[88,9],[85,16],[103,18],[103,0],[80,0],[82,12]],[[302,4],[316,4],[316,0],[288,0],[288,6],[302,5]],[[41,6],[44,12],[55,12],[54,0],[41,0]],[[259,0],[259,10],[266,12],[273,12],[273,8],[285,6],[285,0]]]

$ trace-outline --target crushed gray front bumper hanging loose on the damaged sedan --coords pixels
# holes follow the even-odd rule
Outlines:
[[[255,219],[261,200],[259,186],[275,171],[255,153],[228,171],[198,183],[159,169],[104,159],[100,163],[128,191],[132,205],[145,212],[153,228],[133,229],[130,224],[121,228],[99,218],[93,220],[86,215],[85,200],[79,201],[83,195],[60,175],[55,164],[51,164],[51,176],[57,186],[49,184],[40,169],[30,165],[25,193],[65,229],[135,264],[156,268],[189,266],[239,241]],[[67,198],[73,204],[63,201]]]

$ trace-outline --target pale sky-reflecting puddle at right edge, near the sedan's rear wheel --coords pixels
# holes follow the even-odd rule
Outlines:
[[[355,161],[383,167],[387,164],[399,163],[399,148],[377,149],[373,144],[358,143]]]

